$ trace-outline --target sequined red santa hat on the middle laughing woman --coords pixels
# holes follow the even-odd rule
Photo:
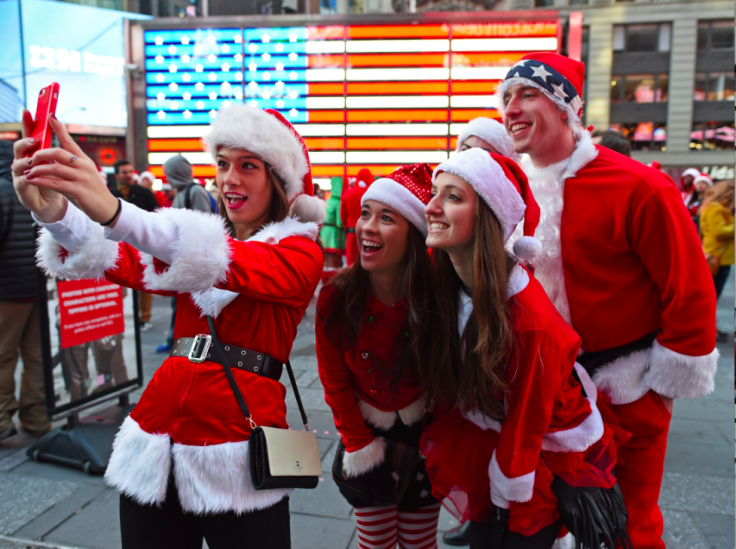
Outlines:
[[[485,152],[485,151],[484,151]],[[387,177],[374,181],[360,200],[360,205],[375,200],[393,208],[427,237],[424,207],[432,196],[432,168],[428,164],[399,166]]]

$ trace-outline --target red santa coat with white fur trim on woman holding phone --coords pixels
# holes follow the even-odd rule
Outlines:
[[[209,333],[209,314],[224,345],[285,362],[322,271],[317,225],[287,218],[241,242],[210,214],[167,209],[154,217],[175,229],[170,265],[106,240],[102,228],[86,217],[77,252],[67,253],[44,231],[39,262],[60,278],[105,278],[139,291],[176,295],[175,339]],[[288,428],[280,382],[238,369],[233,375],[258,425]],[[173,456],[186,511],[243,513],[270,507],[288,490],[253,488],[250,431],[220,364],[169,357],[123,423],[105,480],[141,504],[160,504]]]

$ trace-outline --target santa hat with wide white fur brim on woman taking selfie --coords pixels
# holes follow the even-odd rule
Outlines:
[[[277,111],[235,104],[219,112],[203,139],[217,157],[220,147],[243,149],[258,155],[285,184],[292,201],[291,214],[302,221],[321,222],[324,202],[314,196],[309,152],[294,127]]]

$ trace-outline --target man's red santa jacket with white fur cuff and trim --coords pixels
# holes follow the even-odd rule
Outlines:
[[[524,168],[542,210],[534,275],[582,349],[661,330],[651,349],[598,370],[598,388],[614,404],[649,389],[671,398],[710,393],[715,292],[678,190],[661,172],[593,145],[587,132],[569,159]]]

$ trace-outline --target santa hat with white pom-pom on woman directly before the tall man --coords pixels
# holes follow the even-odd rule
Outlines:
[[[442,172],[464,179],[475,189],[501,224],[504,242],[524,220],[524,236],[514,242],[516,257],[533,259],[540,252],[542,243],[534,236],[539,224],[539,206],[516,162],[483,149],[468,149],[437,166],[432,183]]]

